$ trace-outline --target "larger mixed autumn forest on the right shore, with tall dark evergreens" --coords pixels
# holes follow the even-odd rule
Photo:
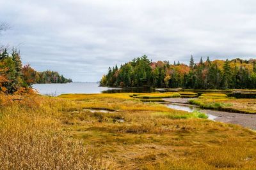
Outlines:
[[[232,59],[195,62],[152,62],[146,55],[109,67],[102,76],[101,86],[156,87],[184,89],[256,89],[256,60]]]

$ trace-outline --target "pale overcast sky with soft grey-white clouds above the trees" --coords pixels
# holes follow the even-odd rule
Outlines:
[[[255,0],[0,0],[0,44],[23,64],[99,81],[134,57],[256,58]]]

